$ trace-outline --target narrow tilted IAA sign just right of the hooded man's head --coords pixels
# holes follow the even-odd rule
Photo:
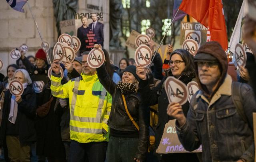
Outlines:
[[[245,67],[245,65],[246,65],[246,53],[244,51],[244,47],[240,43],[236,44],[235,58],[236,58],[236,64],[237,65]]]

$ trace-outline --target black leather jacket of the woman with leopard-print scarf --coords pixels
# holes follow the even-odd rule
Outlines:
[[[134,124],[130,121],[122,101],[122,95],[120,89],[117,88],[114,81],[107,74],[105,65],[102,65],[97,69],[98,78],[100,83],[104,88],[112,95],[112,107],[110,111],[110,116],[108,119],[108,126],[115,130],[123,131],[138,131],[136,130]],[[148,151],[148,122],[149,121],[149,109],[141,104],[140,93],[130,93],[124,95],[126,99],[126,105],[129,113],[134,118],[139,126],[139,142],[138,150],[136,152],[135,158],[140,161],[144,161],[146,152]]]

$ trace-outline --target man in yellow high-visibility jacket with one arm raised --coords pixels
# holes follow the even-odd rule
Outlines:
[[[96,69],[88,66],[88,53],[82,57],[80,77],[61,85],[60,64],[52,62],[51,91],[58,98],[69,98],[70,162],[104,162],[109,133],[106,122],[112,97],[101,85]]]

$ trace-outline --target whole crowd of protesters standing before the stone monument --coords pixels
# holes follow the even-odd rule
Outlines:
[[[245,40],[253,52],[256,41]],[[156,56],[149,67],[122,58],[117,65],[102,49],[105,62],[88,66],[90,51],[74,61],[48,65],[46,53],[24,52],[8,65],[0,82],[0,146],[6,162],[212,162],[254,161],[252,113],[256,112],[255,57],[245,67],[228,63],[216,41],[201,45],[193,57],[168,46],[166,59]],[[94,45],[94,48],[102,48]],[[153,57],[153,56],[152,56]],[[48,69],[52,68],[51,77]],[[61,77],[60,69],[64,71]],[[173,76],[199,86],[190,103],[169,103],[164,82]],[[22,95],[9,83],[19,80]],[[238,81],[238,82],[237,82]],[[34,83],[42,84],[34,91]],[[132,118],[131,118],[132,117]],[[178,138],[188,151],[156,154],[165,124],[176,119]]]

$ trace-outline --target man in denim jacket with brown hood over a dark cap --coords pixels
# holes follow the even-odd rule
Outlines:
[[[216,41],[202,45],[194,62],[199,91],[190,101],[187,117],[179,104],[171,103],[167,110],[177,119],[180,142],[188,151],[202,145],[204,162],[254,161],[252,112],[256,101],[252,88],[232,82],[226,53]]]

